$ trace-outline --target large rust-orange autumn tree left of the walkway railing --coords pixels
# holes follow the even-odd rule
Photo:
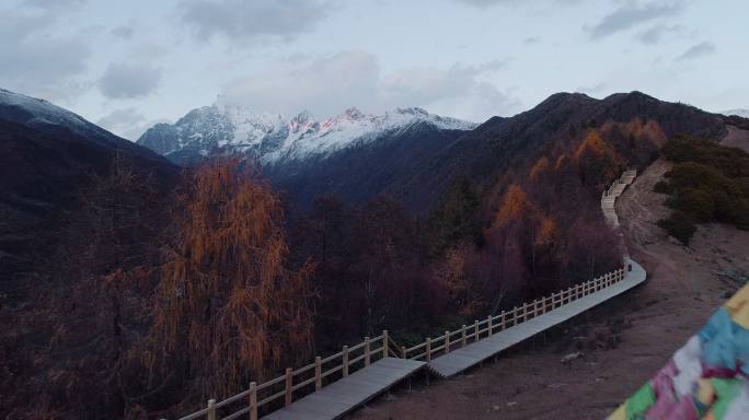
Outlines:
[[[308,357],[312,267],[285,267],[277,196],[222,160],[191,175],[177,201],[145,352],[152,372],[176,375],[188,396],[230,395]]]

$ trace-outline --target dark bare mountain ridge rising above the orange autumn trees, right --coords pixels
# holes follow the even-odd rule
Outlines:
[[[486,184],[510,168],[530,167],[540,153],[560,143],[569,144],[587,128],[635,118],[656,121],[668,137],[683,133],[717,139],[725,133],[725,122],[718,115],[658,101],[641,92],[613,94],[603,100],[557,93],[511,118],[487,120],[387,192],[412,211],[425,213],[454,179],[468,177]]]

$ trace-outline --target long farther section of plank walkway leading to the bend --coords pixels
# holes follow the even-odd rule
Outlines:
[[[509,327],[480,341],[436,358],[428,364],[429,370],[442,377],[454,376],[520,341],[564,323],[644,282],[647,276],[643,267],[632,259],[627,259],[626,262],[632,265],[632,271],[626,272],[624,280],[522,324]]]

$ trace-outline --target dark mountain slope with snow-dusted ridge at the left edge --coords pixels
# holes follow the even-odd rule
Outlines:
[[[49,104],[0,91],[0,279],[33,273],[66,213],[116,153],[165,186],[178,168],[148,149]]]

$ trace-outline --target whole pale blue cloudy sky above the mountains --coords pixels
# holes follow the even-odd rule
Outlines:
[[[749,108],[746,0],[0,0],[0,88],[137,140],[212,104],[483,121],[556,92]]]

